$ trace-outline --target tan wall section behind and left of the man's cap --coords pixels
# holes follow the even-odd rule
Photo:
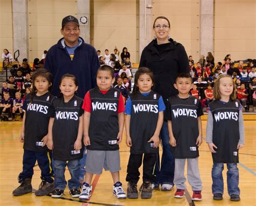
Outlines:
[[[65,16],[77,16],[75,0],[29,0],[29,61],[42,58],[43,51],[49,50],[63,36],[60,33]]]

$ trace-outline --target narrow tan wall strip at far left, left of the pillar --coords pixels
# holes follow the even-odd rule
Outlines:
[[[12,35],[12,6],[11,1],[0,0],[0,54],[2,61],[2,53],[4,49],[8,49],[10,53],[13,50]]]

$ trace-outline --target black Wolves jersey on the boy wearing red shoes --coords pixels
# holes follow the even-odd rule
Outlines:
[[[172,147],[177,159],[190,159],[199,156],[196,145],[199,135],[198,117],[203,115],[199,99],[190,96],[181,99],[178,95],[169,98],[167,120],[172,121],[172,132],[176,139],[176,147]]]

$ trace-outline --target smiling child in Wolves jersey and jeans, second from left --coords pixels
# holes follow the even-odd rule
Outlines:
[[[65,167],[68,166],[71,179],[69,190],[72,197],[79,197],[79,170],[83,157],[83,99],[77,97],[78,89],[76,77],[64,74],[59,84],[61,97],[52,103],[55,109],[54,118],[49,122],[49,136],[47,146],[53,150],[55,168],[55,189],[51,197],[59,198],[63,195],[66,180]]]

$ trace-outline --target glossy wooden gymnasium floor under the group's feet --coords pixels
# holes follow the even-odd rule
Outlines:
[[[208,151],[208,147],[203,142],[200,147],[199,167],[200,175],[203,181],[203,201],[191,202],[190,195],[192,194],[191,187],[187,185],[187,198],[176,199],[173,197],[173,191],[154,190],[153,196],[149,200],[117,200],[112,195],[112,178],[109,172],[103,171],[100,176],[93,178],[93,191],[91,200],[88,202],[78,201],[69,195],[68,189],[65,190],[65,196],[62,199],[53,199],[49,196],[36,197],[35,194],[26,194],[20,197],[12,196],[12,190],[19,186],[17,176],[22,170],[22,143],[18,140],[21,122],[0,122],[0,205],[256,205],[256,121],[255,115],[250,115],[251,120],[245,120],[245,141],[246,145],[240,150],[240,189],[241,201],[231,202],[229,200],[226,181],[223,201],[213,201],[211,193],[211,167],[212,157]],[[245,118],[246,119],[246,118]],[[203,120],[203,134],[205,137],[206,120]],[[161,152],[161,151],[160,151]],[[129,148],[126,147],[125,141],[120,145],[120,156],[122,170],[120,171],[120,180],[124,184],[126,190],[126,166],[129,159]],[[226,171],[226,168],[225,168]],[[32,186],[37,189],[41,182],[40,170],[35,167],[35,174],[32,179]],[[69,178],[69,172],[66,172],[66,177]],[[226,174],[224,172],[224,179]],[[142,182],[139,181],[138,187]]]

